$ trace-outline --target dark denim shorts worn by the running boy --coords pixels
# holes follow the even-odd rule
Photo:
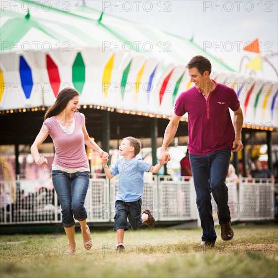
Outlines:
[[[115,202],[115,215],[114,215],[114,230],[124,229],[128,230],[128,222],[133,230],[136,230],[142,225],[143,220],[141,218],[142,199],[135,202]]]

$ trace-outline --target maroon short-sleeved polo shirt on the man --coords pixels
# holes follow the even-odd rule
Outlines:
[[[182,92],[175,103],[177,116],[188,112],[190,154],[206,155],[225,148],[233,149],[235,130],[228,108],[236,111],[240,102],[234,89],[215,84],[207,100],[193,87]]]

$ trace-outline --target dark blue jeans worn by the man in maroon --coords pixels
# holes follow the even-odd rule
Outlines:
[[[202,241],[216,241],[212,217],[211,193],[217,204],[220,224],[230,221],[228,188],[225,179],[228,173],[231,151],[229,148],[208,155],[190,154],[190,165],[197,196],[197,207],[203,228]]]

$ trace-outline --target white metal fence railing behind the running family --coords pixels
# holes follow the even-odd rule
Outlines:
[[[142,209],[150,209],[158,221],[199,219],[192,178],[146,176]],[[241,178],[239,188],[233,179],[227,179],[226,184],[231,221],[274,218],[273,180]],[[88,222],[113,221],[117,189],[117,178],[109,181],[99,174],[90,178],[85,200]],[[212,208],[217,223],[213,198]],[[60,203],[51,179],[0,181],[0,225],[60,222]]]

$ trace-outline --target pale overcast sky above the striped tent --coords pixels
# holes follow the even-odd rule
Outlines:
[[[43,2],[43,1],[41,1]],[[55,2],[58,2],[55,0]],[[61,7],[82,1],[61,0]],[[258,38],[261,56],[277,52],[278,1],[96,1],[85,0],[91,8],[138,23],[158,27],[194,41],[203,49],[239,70],[244,45]],[[277,68],[277,56],[270,59]],[[264,78],[277,79],[267,64]]]

